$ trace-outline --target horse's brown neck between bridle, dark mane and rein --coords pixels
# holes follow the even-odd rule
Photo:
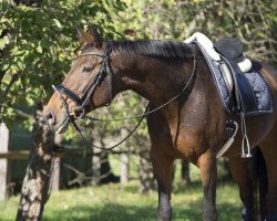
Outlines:
[[[124,90],[132,90],[156,104],[175,96],[193,69],[188,61],[165,61],[146,56],[129,57],[124,64],[121,67]]]

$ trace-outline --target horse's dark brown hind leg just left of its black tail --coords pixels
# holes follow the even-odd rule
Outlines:
[[[254,187],[249,175],[248,160],[238,157],[229,158],[229,169],[234,181],[238,185],[239,196],[245,206],[243,220],[254,220]]]

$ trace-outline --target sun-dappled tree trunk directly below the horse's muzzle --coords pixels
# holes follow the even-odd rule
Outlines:
[[[23,180],[17,220],[41,220],[49,198],[53,133],[48,129],[41,104],[34,113],[33,146]]]

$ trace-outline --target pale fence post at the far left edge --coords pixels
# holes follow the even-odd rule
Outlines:
[[[9,129],[4,123],[0,123],[0,152],[9,150]],[[7,198],[8,159],[0,159],[0,201]]]

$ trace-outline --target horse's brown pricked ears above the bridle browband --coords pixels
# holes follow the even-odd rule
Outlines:
[[[86,33],[85,31],[83,31],[79,27],[76,28],[76,31],[78,31],[78,35],[79,35],[79,40],[80,40],[81,45],[84,45],[86,43],[94,43],[94,45],[96,48],[102,46],[102,38],[101,38],[101,35],[91,25],[89,25],[89,33]]]

